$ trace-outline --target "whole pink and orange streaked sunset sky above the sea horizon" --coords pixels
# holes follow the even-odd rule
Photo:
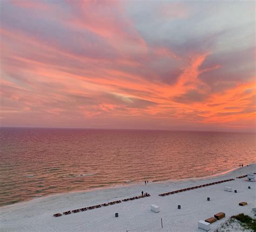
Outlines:
[[[255,131],[254,1],[0,8],[2,126]]]

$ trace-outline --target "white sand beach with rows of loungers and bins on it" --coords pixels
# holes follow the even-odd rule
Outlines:
[[[255,164],[212,178],[149,182],[147,185],[142,183],[41,197],[1,207],[0,231],[204,231],[198,229],[199,220],[224,212],[225,219],[211,224],[211,231],[214,231],[232,215],[252,214],[251,210],[256,204],[256,182],[248,182],[247,178],[237,179],[238,176],[250,172],[256,172]],[[234,181],[159,196],[161,193],[231,178]],[[224,191],[225,186],[232,187],[232,192]],[[248,189],[248,186],[251,186],[251,189]],[[234,193],[234,190],[237,190],[237,193]],[[63,214],[68,210],[139,196],[142,191],[150,193],[151,196],[53,217],[53,214]],[[207,201],[207,197],[211,200]],[[247,206],[239,206],[238,203],[242,201],[247,202]],[[157,204],[160,212],[151,211],[151,204]],[[178,204],[181,209],[177,208]],[[119,213],[119,217],[115,217],[115,213]]]

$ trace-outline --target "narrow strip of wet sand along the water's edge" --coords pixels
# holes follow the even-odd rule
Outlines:
[[[256,162],[249,163],[248,165],[249,166],[250,165],[256,165]],[[246,166],[244,166],[244,167],[246,167]],[[202,177],[198,177],[198,178],[196,177],[196,178],[184,178],[184,179],[169,179],[169,180],[150,181],[149,184],[152,184],[152,183],[169,183],[169,182],[184,182],[184,181],[192,181],[192,182],[194,182],[196,180],[207,180],[207,179],[212,179],[212,178],[215,178],[215,177],[223,176],[225,174],[234,172],[235,170],[238,170],[240,168],[241,167],[231,168],[231,169],[225,170],[224,172],[216,173],[216,174],[209,175],[209,176],[202,176]],[[123,187],[125,188],[125,187],[137,186],[137,185],[143,185],[144,186],[144,183],[134,181],[132,183],[131,182],[127,182],[127,183],[124,183],[122,185],[105,186],[105,187],[98,187],[98,188],[91,188],[91,189],[84,189],[84,190],[73,190],[73,191],[69,191],[69,192],[61,192],[61,193],[49,194],[49,195],[45,195],[45,196],[37,196],[37,197],[33,197],[30,200],[25,200],[25,201],[16,202],[14,204],[6,204],[4,206],[0,206],[0,209],[4,208],[4,207],[15,206],[17,204],[38,200],[38,199],[45,199],[47,197],[52,197],[52,196],[61,196],[61,195],[76,194],[76,193],[90,193],[90,192],[95,192],[95,191],[99,191],[99,190],[104,191],[105,189],[116,189],[116,188],[123,188]]]

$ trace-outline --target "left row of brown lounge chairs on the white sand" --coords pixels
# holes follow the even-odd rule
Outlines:
[[[103,204],[97,204],[96,206],[89,206],[89,207],[85,207],[85,208],[80,208],[80,209],[73,209],[73,210],[69,210],[69,211],[65,211],[63,212],[63,215],[69,215],[72,213],[78,213],[80,211],[86,211],[86,210],[91,210],[91,209],[96,209],[96,208],[100,208],[100,207],[105,207],[105,206],[112,206],[113,204],[119,204],[119,203],[122,203],[122,201],[132,201],[132,200],[135,200],[135,199],[140,199],[142,197],[147,197],[147,196],[150,196],[149,193],[145,193],[143,196],[134,196],[134,197],[131,197],[131,198],[127,198],[127,199],[123,199],[123,200],[117,200],[117,201],[111,201],[109,203],[103,203]],[[53,216],[55,217],[59,217],[59,216],[62,216],[62,214],[60,213],[57,213],[57,214],[53,214]]]

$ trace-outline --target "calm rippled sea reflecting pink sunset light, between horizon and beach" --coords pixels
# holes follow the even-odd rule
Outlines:
[[[255,134],[0,129],[0,206],[49,194],[199,178],[256,161]]]

